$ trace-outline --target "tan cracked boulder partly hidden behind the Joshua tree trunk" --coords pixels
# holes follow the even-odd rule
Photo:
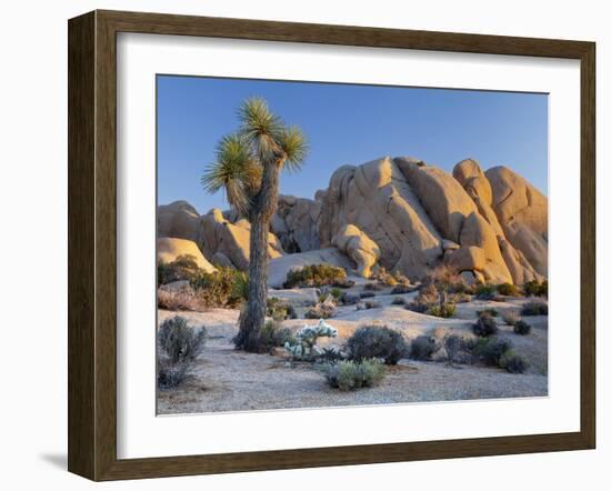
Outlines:
[[[271,233],[268,239],[269,258],[281,257],[280,241]],[[250,223],[246,220],[231,223],[221,210],[212,209],[201,218],[198,244],[207,257],[212,258],[220,252],[234,268],[246,270],[250,259]],[[224,258],[223,263],[227,262]]]

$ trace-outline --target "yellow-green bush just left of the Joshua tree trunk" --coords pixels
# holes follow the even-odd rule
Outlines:
[[[232,268],[202,272],[190,283],[207,307],[236,307],[248,300],[248,274]]]

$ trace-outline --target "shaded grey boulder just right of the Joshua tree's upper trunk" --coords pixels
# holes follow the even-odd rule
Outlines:
[[[318,227],[321,201],[280,194],[278,210],[271,220],[271,231],[287,252],[320,249]]]

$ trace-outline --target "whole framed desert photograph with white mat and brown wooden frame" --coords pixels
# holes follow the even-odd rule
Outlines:
[[[69,21],[69,470],[592,449],[594,43]]]

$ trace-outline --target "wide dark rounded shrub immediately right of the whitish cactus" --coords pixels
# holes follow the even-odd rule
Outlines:
[[[387,364],[397,364],[408,353],[408,344],[401,333],[385,325],[359,328],[345,343],[351,360],[380,358]]]

